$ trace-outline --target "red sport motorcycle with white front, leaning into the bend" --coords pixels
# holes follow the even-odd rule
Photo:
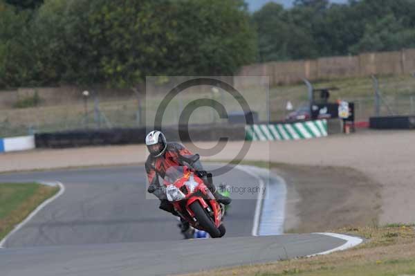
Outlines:
[[[212,175],[208,176],[208,181],[212,181]],[[186,166],[169,167],[164,185],[167,200],[183,219],[194,228],[208,232],[212,238],[223,237],[226,232],[222,224],[225,209],[199,176]]]

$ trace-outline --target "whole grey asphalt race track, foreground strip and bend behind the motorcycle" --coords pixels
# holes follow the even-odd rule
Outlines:
[[[258,185],[236,168],[214,179]],[[224,238],[181,240],[176,219],[158,210],[157,199],[146,199],[142,166],[0,175],[0,183],[28,181],[60,181],[66,190],[6,240],[2,276],[178,274],[303,257],[346,243],[322,234],[251,237],[257,195],[241,194],[232,195]]]

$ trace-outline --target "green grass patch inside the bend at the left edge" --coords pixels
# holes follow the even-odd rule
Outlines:
[[[38,183],[0,183],[0,240],[58,191]]]

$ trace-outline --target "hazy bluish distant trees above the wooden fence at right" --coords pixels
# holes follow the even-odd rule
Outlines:
[[[415,46],[414,0],[295,0],[254,13],[259,62],[311,59]]]

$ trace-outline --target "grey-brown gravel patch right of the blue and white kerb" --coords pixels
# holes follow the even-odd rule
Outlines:
[[[351,167],[277,164],[287,185],[285,232],[377,226],[382,185]]]

